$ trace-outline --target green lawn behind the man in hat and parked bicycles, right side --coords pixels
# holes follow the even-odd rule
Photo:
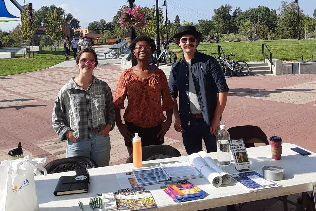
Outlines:
[[[201,43],[197,50],[210,55],[218,53],[218,45],[226,55],[230,53],[237,54],[234,60],[245,61],[263,61],[262,43],[265,43],[273,54],[273,59],[282,59],[283,61],[311,60],[312,54],[316,58],[316,40],[280,40],[280,41],[255,41],[255,42],[223,42],[223,43]],[[177,45],[170,45],[169,50],[177,53],[180,58],[182,51]],[[269,52],[266,53],[270,56]],[[179,58],[178,58],[179,60]]]

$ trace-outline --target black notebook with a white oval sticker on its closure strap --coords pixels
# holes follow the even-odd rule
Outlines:
[[[75,176],[60,177],[54,195],[88,193],[89,175],[86,169],[76,170]]]

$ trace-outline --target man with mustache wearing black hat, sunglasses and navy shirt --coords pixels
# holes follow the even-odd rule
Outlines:
[[[173,36],[183,51],[169,76],[174,129],[182,133],[188,155],[202,151],[202,139],[207,152],[216,152],[216,133],[229,91],[218,61],[197,51],[200,37],[194,26],[182,26]]]

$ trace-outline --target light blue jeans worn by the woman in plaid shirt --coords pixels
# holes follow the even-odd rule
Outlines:
[[[66,157],[86,156],[93,159],[99,167],[110,163],[111,141],[110,137],[93,133],[92,139],[67,142]]]

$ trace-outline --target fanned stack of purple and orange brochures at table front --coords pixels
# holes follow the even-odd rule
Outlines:
[[[206,195],[204,190],[189,183],[186,179],[167,182],[160,187],[174,202],[185,202],[202,199]]]

